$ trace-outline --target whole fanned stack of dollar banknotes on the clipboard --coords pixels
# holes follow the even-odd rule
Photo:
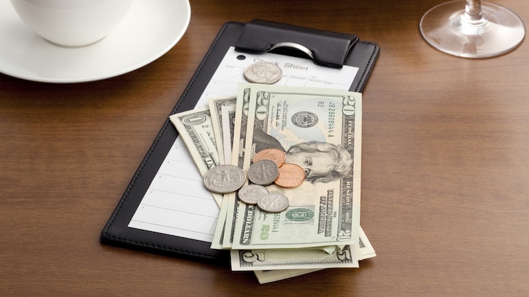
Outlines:
[[[231,250],[232,270],[269,283],[376,256],[360,227],[361,118],[361,93],[251,83],[170,116],[202,176],[219,165],[248,174],[270,149],[304,170],[297,187],[266,186],[288,198],[284,211],[243,202],[238,189],[212,193],[220,212],[211,248]],[[231,177],[214,178],[223,185]]]

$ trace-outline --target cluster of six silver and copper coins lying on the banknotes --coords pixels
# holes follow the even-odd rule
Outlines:
[[[267,149],[254,156],[248,169],[251,184],[243,185],[246,176],[243,169],[235,165],[212,167],[204,175],[206,189],[214,193],[238,191],[238,198],[247,204],[257,204],[269,213],[284,211],[289,206],[289,198],[282,193],[269,192],[264,186],[274,183],[278,187],[293,188],[302,184],[305,172],[295,164],[284,163],[286,155],[281,150]]]

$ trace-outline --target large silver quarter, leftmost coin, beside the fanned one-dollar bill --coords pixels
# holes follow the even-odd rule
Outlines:
[[[204,185],[213,193],[227,194],[243,187],[245,172],[234,165],[218,165],[204,174]]]

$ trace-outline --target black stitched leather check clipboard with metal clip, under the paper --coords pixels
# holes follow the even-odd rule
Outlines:
[[[354,92],[362,91],[379,55],[378,45],[359,40],[354,34],[262,20],[253,20],[249,23],[225,23],[170,115],[194,108],[229,47],[252,54],[273,52],[309,58],[325,67],[341,68],[343,65],[358,67],[359,71],[349,89]],[[100,241],[125,248],[228,265],[229,252],[212,250],[210,242],[128,227],[177,136],[177,130],[170,120],[166,119],[102,229]]]

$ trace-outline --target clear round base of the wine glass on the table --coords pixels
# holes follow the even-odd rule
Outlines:
[[[462,16],[466,1],[449,1],[420,19],[420,34],[436,49],[464,58],[488,58],[512,51],[524,40],[524,21],[501,5],[482,2],[482,22]]]

